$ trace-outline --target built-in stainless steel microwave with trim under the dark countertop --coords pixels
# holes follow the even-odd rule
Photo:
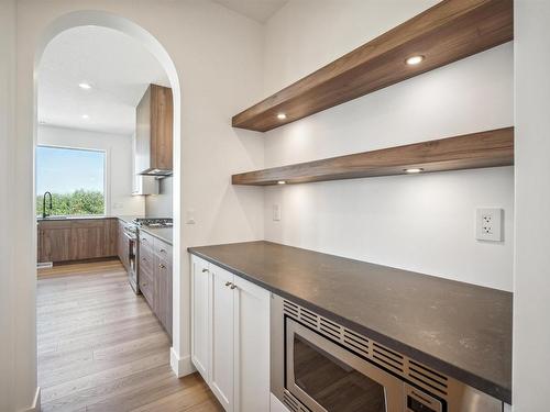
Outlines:
[[[271,389],[292,412],[502,412],[503,402],[272,296]]]

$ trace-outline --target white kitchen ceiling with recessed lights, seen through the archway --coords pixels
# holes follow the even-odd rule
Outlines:
[[[80,82],[92,88],[82,90]],[[150,83],[169,86],[138,41],[105,27],[68,30],[47,45],[38,67],[38,122],[132,134],[135,107]]]

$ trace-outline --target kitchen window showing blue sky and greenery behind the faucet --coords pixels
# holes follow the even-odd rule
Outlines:
[[[52,193],[50,215],[106,214],[106,152],[69,147],[36,147],[36,213]]]

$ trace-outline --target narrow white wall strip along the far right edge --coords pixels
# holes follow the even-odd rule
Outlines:
[[[514,411],[548,411],[550,369],[550,2],[515,3]]]

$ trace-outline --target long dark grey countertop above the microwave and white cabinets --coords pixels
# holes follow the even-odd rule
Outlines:
[[[188,250],[512,403],[509,292],[271,242]]]

